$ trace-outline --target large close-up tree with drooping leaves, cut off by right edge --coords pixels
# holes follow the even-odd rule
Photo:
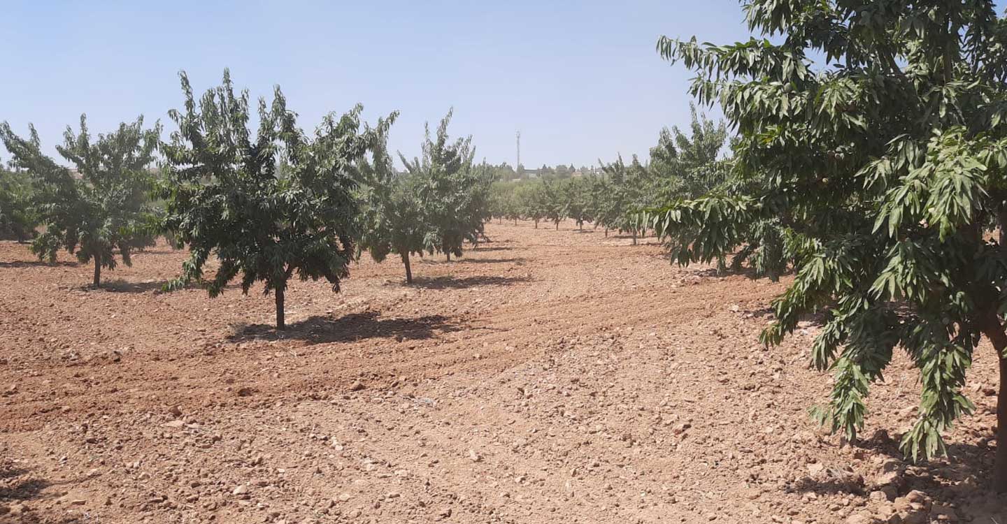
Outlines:
[[[922,388],[902,449],[945,453],[986,337],[1000,371],[994,486],[1007,491],[1007,22],[984,0],[752,0],[746,13],[779,43],[658,43],[740,134],[737,179],[662,209],[660,231],[682,264],[731,252],[752,223],[773,231],[763,260],[796,277],[762,339],[828,312],[813,363],[836,379],[816,413],[851,439],[898,347]]]

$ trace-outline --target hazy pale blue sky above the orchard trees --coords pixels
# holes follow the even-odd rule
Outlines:
[[[0,0],[0,121],[33,123],[52,155],[82,113],[92,133],[139,115],[170,131],[178,71],[199,93],[229,67],[253,99],[279,84],[305,130],[356,103],[372,123],[399,111],[390,146],[409,158],[453,107],[449,132],[479,160],[514,165],[521,131],[529,168],[596,165],[689,124],[692,74],[660,58],[659,36],[748,37],[735,0]]]

